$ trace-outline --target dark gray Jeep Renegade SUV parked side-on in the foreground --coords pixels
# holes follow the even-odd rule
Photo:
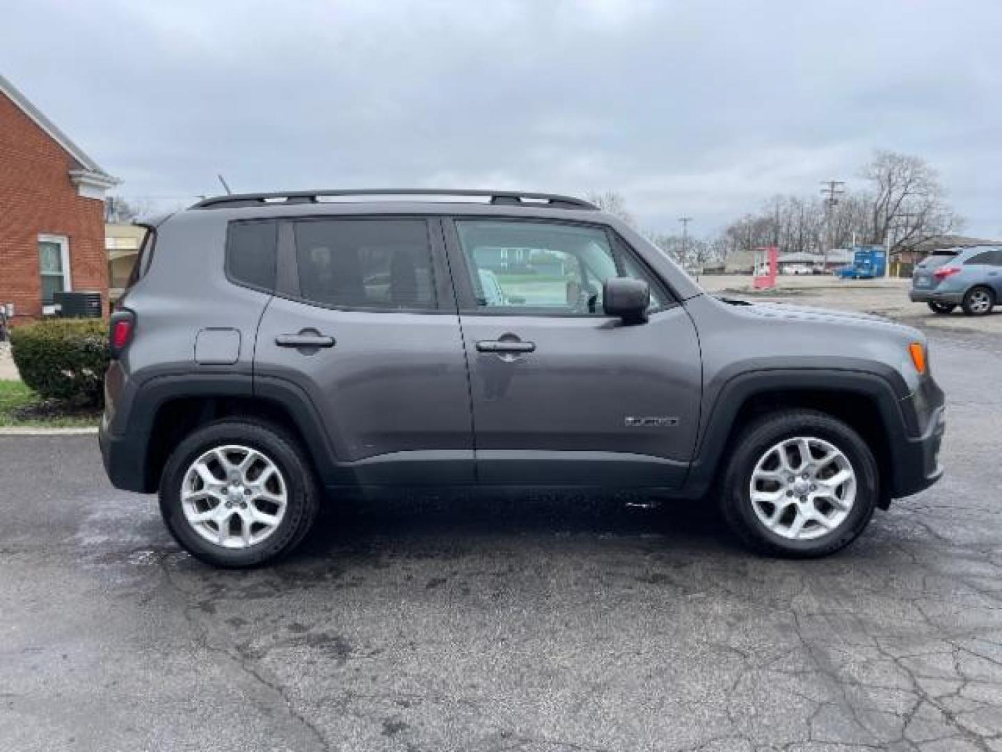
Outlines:
[[[226,196],[149,231],[101,451],[213,565],[292,550],[322,497],[414,486],[712,499],[754,548],[817,556],[942,473],[922,334],[710,297],[583,201]]]

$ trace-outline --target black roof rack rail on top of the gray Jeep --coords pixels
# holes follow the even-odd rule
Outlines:
[[[361,191],[287,191],[275,194],[233,194],[213,196],[191,206],[191,209],[235,209],[238,207],[288,207],[292,204],[317,204],[321,197],[338,196],[476,196],[489,198],[491,204],[513,207],[546,207],[549,209],[590,209],[594,204],[556,194],[527,194],[521,191],[444,191],[439,189],[363,189]]]

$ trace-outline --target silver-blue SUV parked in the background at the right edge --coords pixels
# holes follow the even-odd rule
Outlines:
[[[936,251],[915,268],[909,297],[938,314],[957,306],[968,316],[990,314],[1002,304],[1002,248]]]

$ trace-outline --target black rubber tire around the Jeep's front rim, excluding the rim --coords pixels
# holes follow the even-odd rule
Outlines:
[[[750,498],[752,474],[760,457],[787,438],[808,436],[833,444],[856,473],[856,499],[835,529],[813,539],[793,539],[769,529],[757,516]],[[731,531],[748,547],[788,558],[825,556],[855,540],[869,524],[877,506],[877,462],[866,442],[841,420],[815,410],[787,410],[748,424],[730,454],[720,487],[720,505]]]

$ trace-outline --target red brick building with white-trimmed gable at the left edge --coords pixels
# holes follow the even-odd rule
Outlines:
[[[57,291],[100,291],[107,310],[104,192],[118,181],[0,76],[0,305],[13,323]]]

